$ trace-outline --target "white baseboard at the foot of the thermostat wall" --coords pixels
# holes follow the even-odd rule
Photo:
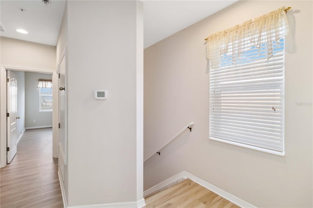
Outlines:
[[[100,204],[100,205],[83,205],[74,206],[68,208],[143,208],[146,206],[145,199],[142,198],[136,202],[121,202],[121,203],[111,203],[111,204]]]

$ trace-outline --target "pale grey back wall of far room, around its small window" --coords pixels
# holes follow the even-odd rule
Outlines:
[[[25,72],[25,127],[52,126],[52,111],[39,111],[38,79],[52,80],[52,74]]]

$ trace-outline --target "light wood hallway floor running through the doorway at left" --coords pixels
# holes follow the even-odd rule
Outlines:
[[[11,164],[0,169],[1,208],[63,208],[52,128],[27,129]]]

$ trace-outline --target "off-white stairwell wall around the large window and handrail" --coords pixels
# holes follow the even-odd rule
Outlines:
[[[281,157],[212,140],[204,38],[282,6],[285,152]],[[144,155],[195,122],[144,164],[144,190],[182,170],[257,207],[313,207],[312,1],[238,1],[144,51]]]

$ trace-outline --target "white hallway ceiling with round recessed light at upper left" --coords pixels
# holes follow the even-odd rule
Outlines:
[[[0,24],[3,37],[56,45],[66,1],[0,0]],[[24,9],[21,11],[20,9]],[[22,28],[28,34],[15,30]]]

